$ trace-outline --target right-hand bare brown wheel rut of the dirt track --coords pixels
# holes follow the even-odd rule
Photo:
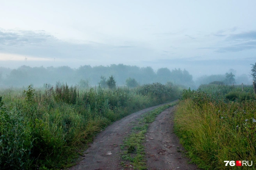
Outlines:
[[[160,113],[146,133],[145,152],[150,170],[197,170],[188,164],[184,148],[173,132],[174,107]]]

